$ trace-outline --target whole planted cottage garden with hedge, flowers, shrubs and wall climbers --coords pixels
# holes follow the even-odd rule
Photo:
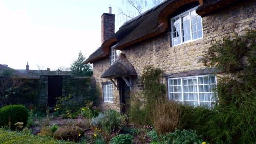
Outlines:
[[[8,104],[0,109],[0,143],[256,143],[255,38],[254,30],[234,34],[205,53],[202,62],[223,72],[213,107],[169,101],[164,72],[146,66],[126,114],[102,111],[98,99],[77,104],[73,95],[53,109]]]

